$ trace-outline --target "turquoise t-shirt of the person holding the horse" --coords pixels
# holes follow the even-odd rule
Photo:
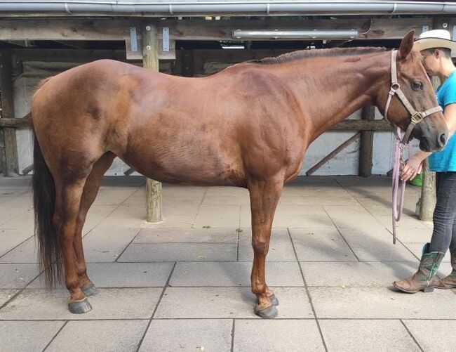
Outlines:
[[[437,89],[437,103],[445,109],[446,105],[456,103],[456,71],[453,71]],[[436,172],[456,171],[456,138],[450,138],[445,148],[429,156],[429,169]]]

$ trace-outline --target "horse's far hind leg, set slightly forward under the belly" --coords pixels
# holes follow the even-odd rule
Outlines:
[[[86,260],[84,259],[82,246],[82,229],[86,222],[88,209],[93,204],[95,197],[98,194],[103,175],[105,175],[107,169],[111,167],[115,157],[116,155],[114,155],[114,153],[106,152],[97,162],[95,162],[95,164],[93,164],[92,171],[90,171],[83,188],[81,204],[79,205],[79,212],[76,219],[76,231],[73,242],[74,254],[76,257],[76,271],[79,277],[79,285],[86,296],[98,294],[98,289],[93,285],[93,282],[90,281],[87,275]]]

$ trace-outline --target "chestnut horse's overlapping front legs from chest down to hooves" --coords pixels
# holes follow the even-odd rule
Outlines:
[[[252,211],[253,268],[250,277],[252,292],[257,295],[255,313],[262,318],[274,318],[278,304],[274,292],[266,285],[264,264],[269,249],[272,220],[283,189],[283,178],[274,178],[249,183],[250,208]]]

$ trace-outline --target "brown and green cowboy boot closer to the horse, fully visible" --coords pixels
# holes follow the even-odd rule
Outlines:
[[[394,287],[407,293],[434,291],[435,275],[443,256],[445,256],[445,253],[442,252],[429,253],[429,243],[427,243],[423,247],[423,254],[418,271],[414,275],[410,276],[410,278],[406,278],[401,281],[394,281]]]

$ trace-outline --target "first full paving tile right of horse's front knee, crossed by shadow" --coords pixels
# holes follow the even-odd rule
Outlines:
[[[299,261],[358,261],[337,230],[290,228]]]

